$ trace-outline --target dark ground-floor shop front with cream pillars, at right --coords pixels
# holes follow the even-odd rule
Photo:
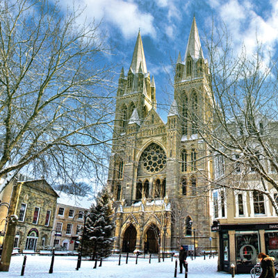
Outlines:
[[[218,232],[218,270],[229,272],[234,264],[237,273],[249,273],[259,252],[278,257],[278,224],[214,222],[211,231]]]

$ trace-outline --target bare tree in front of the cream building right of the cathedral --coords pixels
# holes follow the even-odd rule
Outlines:
[[[205,120],[190,120],[208,146],[213,188],[266,195],[278,213],[277,60],[259,42],[252,54],[244,46],[236,54],[231,42],[226,28],[207,38],[211,95]]]

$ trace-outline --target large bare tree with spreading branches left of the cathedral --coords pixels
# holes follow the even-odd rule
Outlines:
[[[47,0],[0,10],[0,178],[97,179],[114,106],[98,25]]]

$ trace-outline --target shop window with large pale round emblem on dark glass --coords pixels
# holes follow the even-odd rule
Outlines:
[[[240,231],[236,233],[236,263],[238,266],[255,264],[258,254],[258,232]]]

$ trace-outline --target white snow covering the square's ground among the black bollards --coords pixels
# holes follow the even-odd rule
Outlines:
[[[10,263],[9,272],[1,272],[0,277],[20,277],[22,270],[24,256],[13,256]],[[158,259],[152,258],[149,263],[149,257],[143,259],[142,256],[138,258],[136,265],[136,258],[129,258],[126,264],[126,259],[122,256],[121,265],[118,265],[118,257],[110,256],[102,262],[102,266],[93,269],[95,261],[82,261],[81,268],[76,268],[77,256],[55,256],[54,271],[49,274],[49,267],[51,263],[51,256],[32,256],[27,255],[26,268],[24,277],[32,278],[172,278],[174,277],[174,260],[166,258],[163,262],[158,263]],[[204,257],[197,257],[196,259],[188,259],[188,278],[220,278],[231,277],[225,272],[217,272],[218,258],[208,259],[204,261]],[[177,278],[185,277],[179,274],[179,264],[177,271]],[[238,278],[250,278],[250,274],[236,275]]]

